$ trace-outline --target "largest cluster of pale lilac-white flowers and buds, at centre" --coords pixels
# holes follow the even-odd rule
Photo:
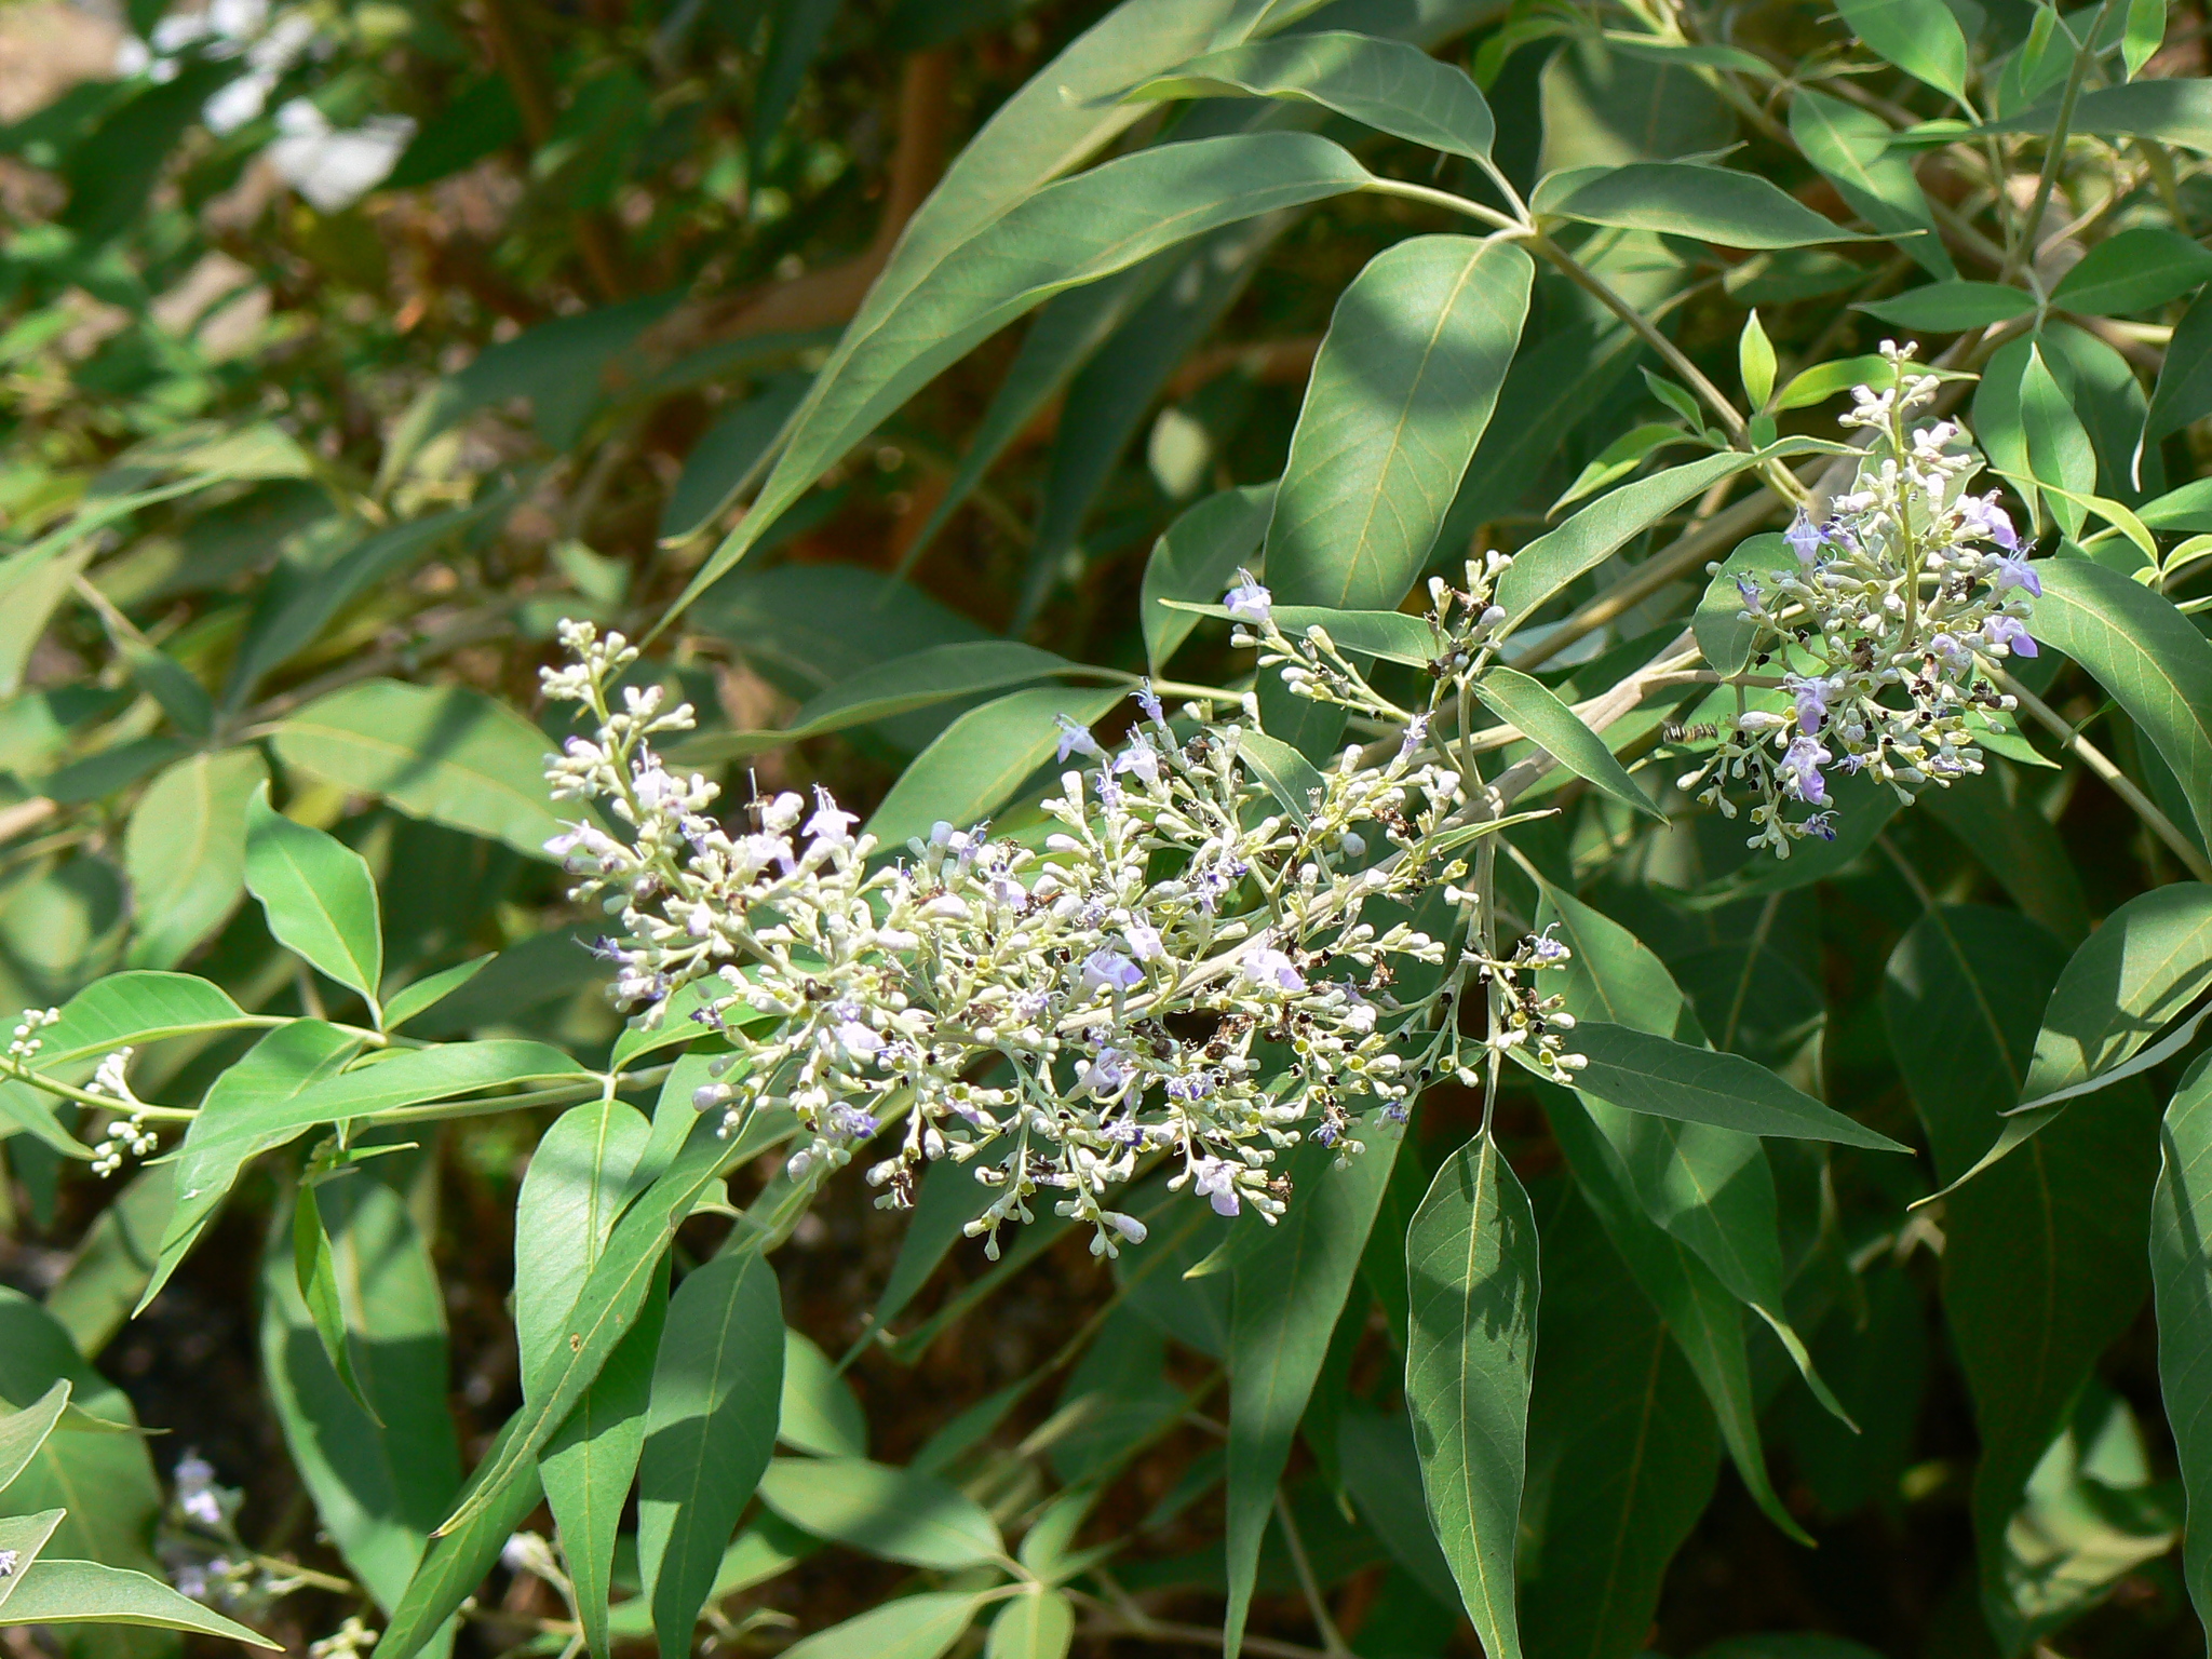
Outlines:
[[[1265,588],[1245,588],[1263,619]],[[1170,721],[1146,688],[1115,754],[1062,728],[1062,761],[1099,765],[1062,774],[1042,845],[940,823],[883,860],[827,790],[812,810],[757,799],[723,827],[714,785],[672,776],[648,745],[690,710],[637,690],[615,708],[637,653],[588,624],[562,637],[577,661],[546,670],[546,695],[586,703],[597,732],[549,757],[549,779],[604,801],[628,836],[575,823],[551,849],[582,878],[575,898],[617,918],[602,947],[613,995],[650,1024],[712,975],[690,1018],[734,1048],[695,1104],[723,1113],[723,1133],[763,1106],[796,1110],[810,1144],[794,1175],[902,1119],[869,1168],[878,1203],[911,1203],[916,1168],[951,1157],[998,1190],[969,1228],[993,1254],[1042,1190],[1113,1254],[1144,1237],[1106,1206],[1139,1164],[1168,1159],[1170,1188],[1272,1221],[1283,1148],[1358,1152],[1365,1104],[1402,1121],[1431,1077],[1475,1079],[1462,1048],[1526,1044],[1555,1075],[1577,1060],[1559,1051],[1557,998],[1520,989],[1566,949],[1526,940],[1493,960],[1473,894],[1453,887],[1467,865],[1449,852],[1473,834],[1453,816],[1460,774],[1427,759],[1427,717],[1283,801],[1245,763],[1241,726],[1199,706]],[[1433,887],[1458,907],[1438,914],[1462,918],[1451,942],[1409,920]],[[1495,1035],[1460,1035],[1467,982],[1491,995]]]

